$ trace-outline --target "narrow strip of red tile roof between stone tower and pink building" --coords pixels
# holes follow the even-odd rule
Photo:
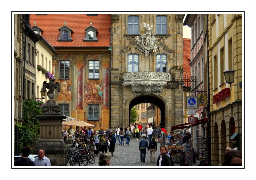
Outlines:
[[[191,39],[187,39],[187,38],[183,38],[183,68],[186,70],[187,72],[187,76],[186,77],[187,79],[190,79],[189,76],[191,74],[191,71],[190,71],[190,52],[191,52]],[[190,86],[190,84],[185,84],[185,86]]]

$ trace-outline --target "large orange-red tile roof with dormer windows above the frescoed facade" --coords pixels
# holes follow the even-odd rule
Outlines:
[[[59,28],[66,26],[72,29],[72,42],[58,42],[60,37]],[[97,29],[96,37],[98,42],[84,42],[85,29],[90,26]],[[31,27],[41,28],[42,35],[56,47],[107,47],[110,42],[111,14],[98,14],[98,16],[87,16],[86,14],[47,14],[47,15],[30,15]]]

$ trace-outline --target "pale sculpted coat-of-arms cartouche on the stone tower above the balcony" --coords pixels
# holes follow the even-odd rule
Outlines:
[[[142,34],[140,37],[137,36],[135,38],[135,41],[144,50],[145,56],[148,57],[149,52],[151,52],[151,50],[153,50],[153,52],[157,54],[158,39],[153,34],[153,25],[151,25],[150,27],[149,24],[146,25],[146,23],[144,23],[144,27],[147,28],[147,32],[145,34]]]

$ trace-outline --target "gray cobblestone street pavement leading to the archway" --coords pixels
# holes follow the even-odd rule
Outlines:
[[[148,138],[146,140],[149,141]],[[155,153],[155,162],[154,163],[150,162],[150,152],[146,151],[146,160],[145,160],[145,163],[143,163],[140,160],[141,154],[139,151],[139,141],[140,140],[136,140],[135,138],[133,138],[130,141],[128,146],[127,144],[125,144],[125,140],[124,140],[124,146],[121,146],[118,144],[118,140],[117,140],[116,141],[117,143],[115,145],[114,156],[112,156],[111,158],[110,166],[157,166],[157,158],[160,155],[160,150],[159,150],[160,143],[157,143],[157,151]],[[108,149],[107,149],[107,153],[110,153]],[[131,156],[133,158],[131,158]],[[94,164],[88,163],[87,166],[99,166],[98,158],[99,158],[99,155],[96,155],[95,163]],[[179,156],[177,157],[177,159],[179,160]],[[179,161],[175,162],[175,159],[173,159],[173,161],[174,161],[174,166],[180,166]],[[196,165],[198,164],[199,162],[197,161]],[[196,166],[196,165],[193,165],[193,166]]]

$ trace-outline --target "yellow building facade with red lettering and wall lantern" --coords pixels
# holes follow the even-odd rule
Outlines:
[[[241,14],[209,14],[205,18],[208,20],[208,47],[204,53],[207,58],[209,51],[211,164],[218,166],[224,160],[226,147],[242,151],[242,87],[238,84],[242,82],[243,24]],[[228,69],[235,71],[232,89],[223,73]]]

